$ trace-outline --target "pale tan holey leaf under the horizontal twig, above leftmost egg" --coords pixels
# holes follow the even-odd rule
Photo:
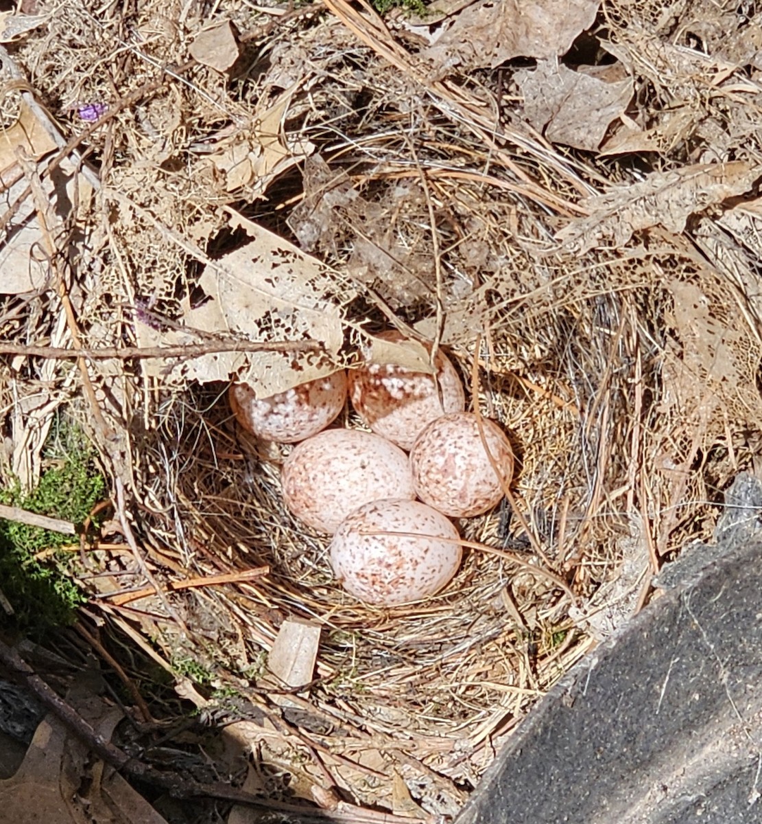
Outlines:
[[[314,353],[213,353],[178,363],[165,376],[207,383],[237,375],[249,381],[258,396],[271,396],[335,371],[344,343],[343,304],[354,292],[319,260],[267,229],[243,218],[231,225],[244,227],[251,240],[207,265],[199,286],[209,299],[181,319],[188,331],[160,332],[139,322],[140,345],[197,341],[194,330],[263,342],[313,340],[323,345],[323,358]],[[164,374],[159,361],[147,363],[146,368]]]

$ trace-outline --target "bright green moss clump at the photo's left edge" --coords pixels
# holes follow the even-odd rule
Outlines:
[[[44,458],[49,469],[37,489],[22,494],[17,482],[0,488],[0,503],[80,526],[106,489],[91,444],[80,428],[61,419]],[[84,600],[71,575],[77,555],[54,550],[76,541],[70,535],[0,518],[0,589],[14,610],[13,616],[0,611],[0,619],[33,634],[73,622]],[[44,558],[35,558],[40,553]]]

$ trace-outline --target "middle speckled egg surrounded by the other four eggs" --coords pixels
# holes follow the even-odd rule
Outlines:
[[[357,429],[327,429],[301,442],[281,481],[290,513],[323,532],[335,532],[364,503],[416,497],[402,449]]]

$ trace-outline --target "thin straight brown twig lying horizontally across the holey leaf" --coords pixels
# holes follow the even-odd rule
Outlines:
[[[64,349],[60,346],[23,346],[21,344],[0,344],[0,355],[25,355],[35,358],[58,358],[74,360],[91,358],[109,360],[119,358],[197,358],[215,352],[313,352],[321,351],[323,344],[314,340],[273,340],[270,343],[259,340],[212,340],[207,344],[180,344],[177,346],[104,346],[98,349]]]

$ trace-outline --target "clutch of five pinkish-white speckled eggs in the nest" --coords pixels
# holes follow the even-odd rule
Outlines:
[[[388,331],[379,338],[404,336]],[[284,503],[309,527],[333,535],[334,573],[367,603],[393,606],[444,588],[462,557],[447,516],[485,513],[513,473],[502,429],[463,411],[462,383],[444,353],[434,364],[435,378],[371,363],[348,379],[334,372],[263,399],[246,384],[230,386],[230,406],[244,428],[297,444],[281,473]],[[373,433],[326,429],[347,394]]]

